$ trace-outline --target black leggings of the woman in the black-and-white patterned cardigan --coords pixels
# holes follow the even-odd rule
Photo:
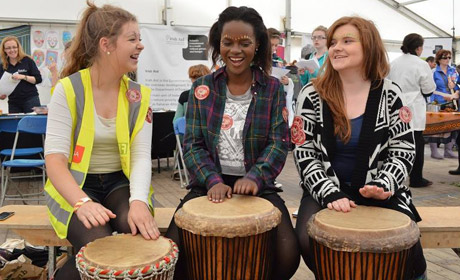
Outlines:
[[[313,214],[317,213],[322,209],[323,208],[318,204],[318,202],[316,202],[316,200],[313,199],[313,197],[309,195],[304,195],[302,201],[300,202],[300,208],[297,215],[297,223],[295,228],[300,243],[302,257],[305,261],[305,264],[313,273],[315,273],[315,275],[315,258],[313,255],[313,250],[311,249],[310,239],[307,233],[307,222]],[[426,261],[425,257],[423,256],[423,250],[422,245],[420,244],[420,240],[415,244],[413,250],[414,275],[420,276],[426,270]]]

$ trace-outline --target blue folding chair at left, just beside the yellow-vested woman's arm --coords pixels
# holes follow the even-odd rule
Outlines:
[[[1,164],[2,169],[2,180],[1,180],[1,197],[0,197],[0,206],[3,205],[5,200],[32,200],[28,198],[29,196],[39,196],[43,193],[43,187],[45,186],[45,160],[43,156],[40,154],[41,159],[15,159],[15,156],[19,154],[16,153],[17,150],[16,146],[18,143],[18,138],[20,133],[31,133],[31,134],[41,134],[42,139],[44,139],[44,135],[46,133],[46,123],[47,117],[46,116],[26,116],[22,118],[17,127],[16,136],[14,138],[13,148],[11,149],[11,157],[9,160],[5,160]],[[39,149],[37,148],[29,148],[29,149]],[[43,148],[41,148],[43,151]],[[42,170],[42,175],[30,175],[30,176],[10,176],[10,171],[12,167],[25,167],[25,168],[40,168]],[[19,188],[14,185],[18,191],[17,195],[7,195],[8,190],[8,183],[11,179],[23,178],[23,177],[42,177],[43,187],[39,189],[37,193],[29,193],[23,194]],[[37,198],[33,199],[37,200]]]

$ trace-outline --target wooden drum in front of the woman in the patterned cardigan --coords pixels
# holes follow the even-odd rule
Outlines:
[[[335,280],[409,279],[406,265],[420,231],[395,210],[358,206],[343,213],[323,209],[310,218],[316,278]]]

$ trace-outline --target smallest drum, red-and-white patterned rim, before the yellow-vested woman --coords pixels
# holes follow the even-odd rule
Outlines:
[[[78,252],[76,263],[83,280],[172,280],[177,258],[177,245],[170,239],[120,234],[88,243]]]

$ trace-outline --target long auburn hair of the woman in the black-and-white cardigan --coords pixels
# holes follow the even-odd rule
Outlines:
[[[358,29],[361,46],[363,48],[362,75],[365,80],[383,80],[389,70],[387,53],[380,34],[372,21],[361,17],[342,17],[338,19],[328,30],[327,47],[330,48],[332,36],[337,28],[351,24]],[[339,73],[334,70],[330,58],[324,65],[324,73],[312,83],[321,96],[329,105],[334,120],[334,135],[347,143],[351,137],[351,125],[345,110],[343,97],[343,84]]]

